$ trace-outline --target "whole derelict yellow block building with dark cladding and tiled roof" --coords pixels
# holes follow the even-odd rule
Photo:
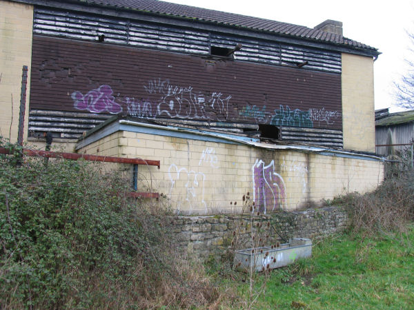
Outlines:
[[[0,0],[1,135],[143,158],[181,214],[301,209],[382,182],[376,48],[155,0]],[[23,74],[22,74],[23,72]],[[20,99],[20,100],[19,100]],[[22,103],[22,105],[21,105]],[[132,167],[129,167],[132,173]],[[137,172],[134,170],[134,173]]]

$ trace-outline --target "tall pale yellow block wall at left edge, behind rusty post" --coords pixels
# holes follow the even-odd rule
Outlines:
[[[10,141],[13,143],[17,141],[19,128],[23,65],[27,65],[29,69],[23,137],[26,140],[28,136],[32,25],[33,6],[0,1],[0,136],[6,138],[10,136]]]

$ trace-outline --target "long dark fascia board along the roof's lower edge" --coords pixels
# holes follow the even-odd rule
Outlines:
[[[79,12],[90,13],[90,7],[97,8],[97,14],[103,14],[110,17],[119,17],[127,19],[136,19],[139,21],[148,21],[151,23],[161,23],[165,25],[177,25],[183,28],[193,28],[198,30],[206,30],[213,32],[221,32],[224,34],[232,34],[240,37],[253,37],[254,39],[264,39],[266,41],[276,41],[277,43],[289,43],[293,45],[302,45],[308,48],[319,48],[322,50],[335,50],[337,52],[345,52],[349,54],[358,54],[362,56],[375,57],[380,54],[377,50],[368,50],[364,48],[346,48],[335,43],[320,43],[311,39],[295,39],[293,37],[284,37],[280,34],[271,34],[270,32],[261,32],[259,30],[244,30],[243,28],[235,28],[230,25],[217,25],[213,22],[201,21],[195,19],[188,21],[184,17],[160,15],[152,12],[144,12],[142,10],[126,10],[124,8],[108,8],[106,6],[97,6],[89,3],[73,3],[70,1],[48,1],[48,0],[12,0],[14,2],[30,3],[36,6],[46,6],[49,8],[59,8],[64,10],[75,10]]]

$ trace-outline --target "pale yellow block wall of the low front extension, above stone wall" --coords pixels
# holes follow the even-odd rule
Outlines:
[[[118,151],[116,145],[119,145]],[[272,187],[277,199],[266,203],[267,211],[302,209],[320,205],[323,198],[332,199],[338,194],[371,191],[383,179],[383,166],[378,161],[269,151],[248,145],[135,132],[112,134],[79,150],[85,151],[159,160],[161,169],[139,165],[139,190],[166,194],[172,209],[181,214],[239,212],[243,195],[249,192],[253,198],[255,192],[254,165],[267,167],[265,171],[257,171],[264,172],[266,180],[277,184]],[[128,169],[132,178],[131,167]],[[277,195],[277,186],[282,185],[286,200]]]

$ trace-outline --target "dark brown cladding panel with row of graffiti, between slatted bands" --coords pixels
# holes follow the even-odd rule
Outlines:
[[[33,36],[30,107],[342,129],[341,76]]]

